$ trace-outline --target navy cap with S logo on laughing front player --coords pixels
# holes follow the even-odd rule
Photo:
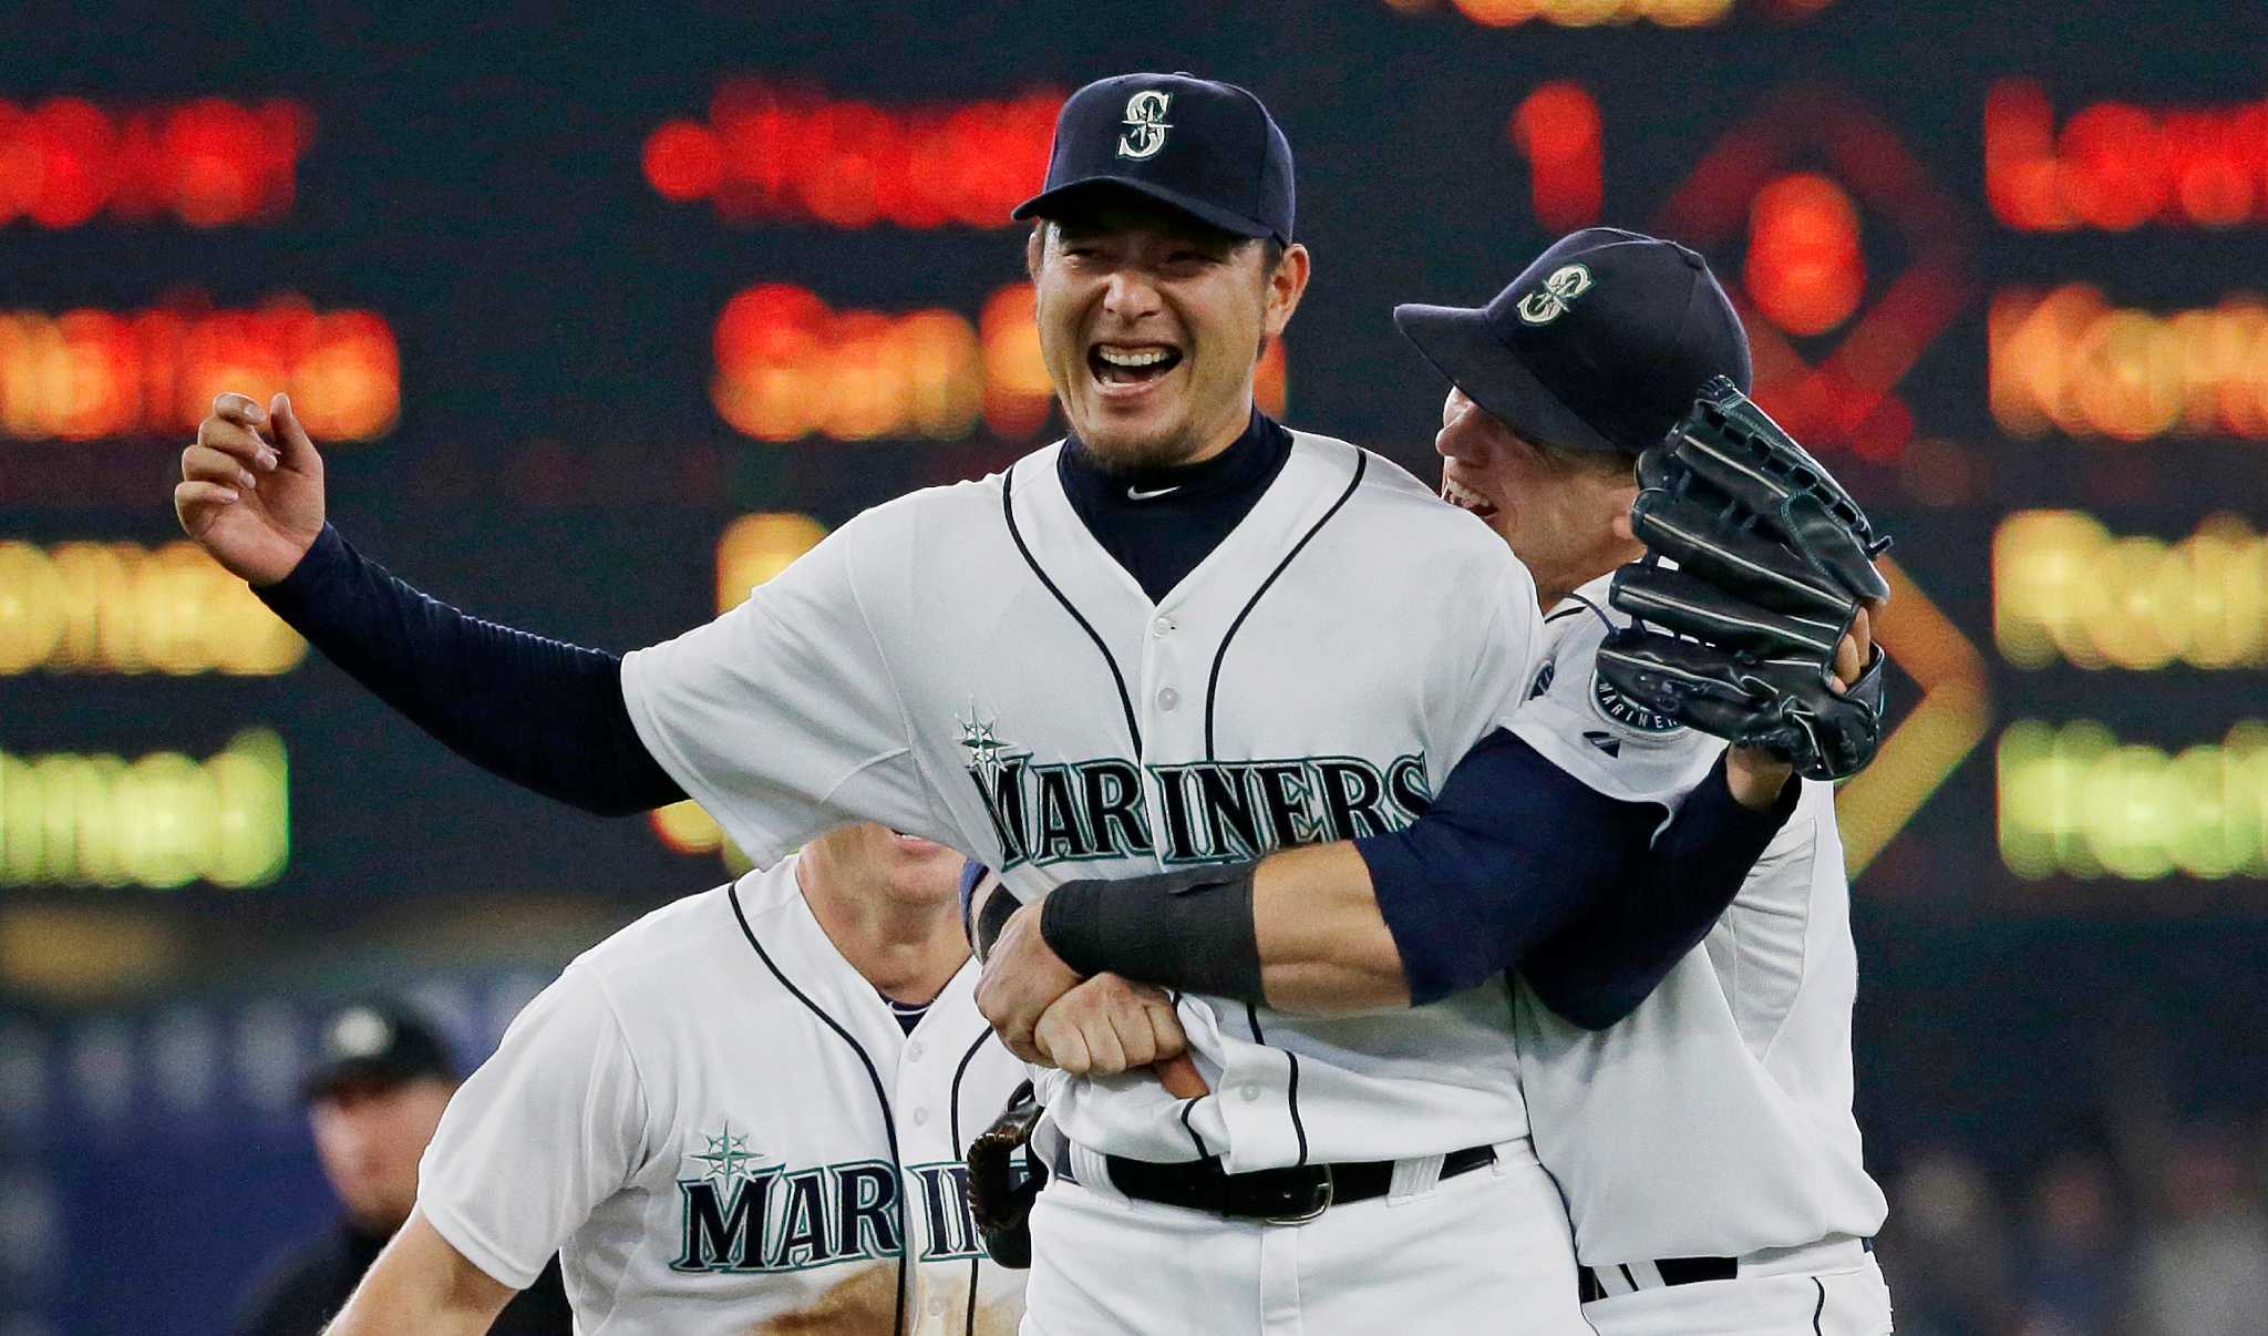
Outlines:
[[[1290,245],[1290,141],[1236,84],[1195,75],[1095,79],[1055,118],[1048,184],[1012,218],[1052,218],[1070,195],[1120,186],[1236,236]]]

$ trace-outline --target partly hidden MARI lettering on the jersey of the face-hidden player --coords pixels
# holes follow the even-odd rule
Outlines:
[[[680,1245],[669,1270],[764,1272],[810,1270],[860,1259],[891,1259],[898,1234],[900,1179],[882,1159],[789,1168],[767,1164],[726,1123],[701,1136],[705,1150],[685,1159],[703,1168],[678,1179]],[[916,1164],[907,1175],[928,1223],[921,1261],[957,1261],[984,1252],[968,1214],[968,1166]]]

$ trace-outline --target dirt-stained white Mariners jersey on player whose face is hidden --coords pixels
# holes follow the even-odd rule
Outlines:
[[[962,1157],[1023,1064],[973,964],[905,1034],[794,869],[583,953],[426,1148],[426,1220],[515,1288],[558,1252],[581,1336],[1016,1329]]]

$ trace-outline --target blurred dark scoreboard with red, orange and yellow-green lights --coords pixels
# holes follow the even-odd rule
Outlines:
[[[311,656],[181,542],[179,447],[218,390],[288,390],[374,558],[662,640],[1052,438],[1007,211],[1068,88],[1193,68],[1300,154],[1318,277],[1263,404],[1427,479],[1395,302],[1481,302],[1594,222],[1710,256],[1758,397],[1898,535],[1896,733],[1842,794],[1862,889],[2268,907],[2268,34],[2202,2],[1154,9],[311,20],[284,64],[11,34],[0,903],[721,876],[699,810],[553,810]],[[882,32],[925,36],[846,41]]]

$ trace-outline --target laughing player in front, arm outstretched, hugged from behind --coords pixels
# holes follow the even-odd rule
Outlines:
[[[689,794],[758,864],[869,819],[1036,898],[1073,873],[1402,835],[1361,896],[1372,919],[1417,923],[1431,955],[1408,966],[1415,987],[1399,937],[1365,966],[1431,1005],[1304,1018],[1227,991],[1168,1009],[1080,984],[1120,1064],[1186,1043],[1207,1089],[1046,1073],[1052,1118],[1093,1157],[1082,1179],[1141,1198],[1125,1218],[1170,1245],[1143,1257],[1127,1229],[1118,1252],[1061,1259],[1129,1302],[1057,1286],[1059,1316],[1034,1302],[1027,1327],[1374,1331],[1422,1293],[1440,1331],[1579,1329],[1501,969],[1633,880],[1706,878],[1651,862],[1660,807],[1603,798],[1504,728],[1540,610],[1501,542],[1445,524],[1390,463],[1254,411],[1259,352],[1311,263],[1290,150],[1256,98],[1186,75],[1089,84],[1018,213],[1039,218],[1027,261],[1070,436],[860,515],[744,606],[624,660],[469,619],[363,560],[324,526],[322,463],[284,397],[215,404],[177,510],[463,755],[596,812]],[[1488,817],[1417,821],[1452,767]],[[1746,869],[1776,819],[1728,807],[1685,803],[1662,839],[1717,851],[1694,866]],[[1495,912],[1486,944],[1442,966],[1454,923],[1402,914],[1429,900]],[[1259,969],[1234,921],[1191,932],[1193,959]],[[1272,962],[1343,957],[1313,935]],[[1046,1263],[1043,1232],[1036,1248]],[[1148,1279],[1168,1261],[1177,1284]],[[1168,1316],[1191,1297],[1202,1318]]]

